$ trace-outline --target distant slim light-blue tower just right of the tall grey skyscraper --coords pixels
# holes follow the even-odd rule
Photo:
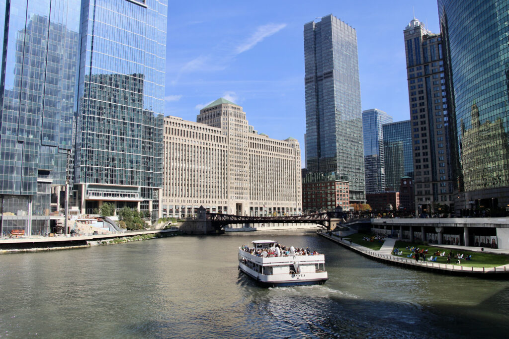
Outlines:
[[[382,125],[392,122],[392,116],[373,108],[362,111],[364,138],[364,178],[366,194],[385,190],[385,158]]]

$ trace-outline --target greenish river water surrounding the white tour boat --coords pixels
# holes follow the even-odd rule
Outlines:
[[[239,273],[256,239],[325,253],[322,286]],[[388,266],[311,232],[179,236],[0,256],[0,337],[506,337],[509,282]]]

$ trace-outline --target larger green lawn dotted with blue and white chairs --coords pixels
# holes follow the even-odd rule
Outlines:
[[[362,238],[362,237],[361,237]],[[353,241],[353,240],[352,240]],[[394,248],[400,249],[400,251],[403,251],[403,254],[400,257],[406,258],[408,254],[411,252],[409,250],[405,250],[407,246],[415,246],[419,249],[428,249],[428,253],[426,254],[426,261],[428,261],[428,258],[430,256],[435,257],[434,253],[437,251],[440,251],[440,253],[445,251],[445,257],[438,256],[437,263],[446,264],[447,263],[447,254],[450,251],[453,251],[453,254],[456,255],[457,253],[463,254],[463,257],[467,257],[469,255],[472,255],[472,260],[460,260],[461,266],[465,267],[495,267],[500,265],[505,265],[509,263],[509,256],[503,255],[503,254],[492,254],[492,253],[482,253],[482,252],[472,252],[472,251],[463,251],[463,250],[457,250],[457,249],[447,249],[447,248],[438,248],[433,246],[427,246],[427,245],[419,245],[407,241],[397,240],[394,244]],[[452,258],[450,260],[451,264],[457,265],[456,261],[458,259]]]

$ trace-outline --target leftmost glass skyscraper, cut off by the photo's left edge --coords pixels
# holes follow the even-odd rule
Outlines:
[[[79,67],[79,0],[0,6],[2,234],[43,234],[56,217],[73,148]],[[56,201],[56,198],[53,199]]]

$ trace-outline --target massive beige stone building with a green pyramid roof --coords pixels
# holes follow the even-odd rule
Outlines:
[[[302,211],[297,140],[271,139],[242,107],[218,99],[186,121],[164,118],[163,215],[208,212],[292,215]]]

